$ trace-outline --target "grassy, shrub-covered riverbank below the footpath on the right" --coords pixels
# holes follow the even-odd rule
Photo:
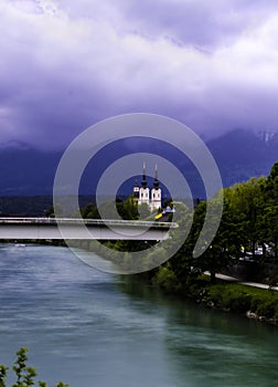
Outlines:
[[[205,307],[278,325],[278,292],[271,287],[252,287],[220,279],[212,284],[205,275],[189,276],[182,284],[173,275],[164,275],[163,281],[161,275],[154,275],[151,281],[168,294],[192,299]]]

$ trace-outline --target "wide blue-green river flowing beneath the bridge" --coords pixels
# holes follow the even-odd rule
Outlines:
[[[276,327],[96,271],[66,248],[0,244],[0,364],[21,346],[50,386],[278,383]]]

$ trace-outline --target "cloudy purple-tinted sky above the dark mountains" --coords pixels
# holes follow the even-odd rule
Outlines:
[[[63,149],[137,112],[278,132],[278,2],[0,0],[0,147]]]

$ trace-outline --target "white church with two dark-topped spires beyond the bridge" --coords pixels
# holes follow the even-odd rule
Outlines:
[[[154,181],[152,188],[148,187],[146,179],[146,164],[143,163],[143,172],[141,186],[133,186],[133,196],[138,201],[138,205],[146,203],[149,206],[150,211],[159,210],[161,208],[161,188],[158,180],[158,167],[154,168]]]

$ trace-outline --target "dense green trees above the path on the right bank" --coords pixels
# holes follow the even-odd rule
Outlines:
[[[153,281],[162,287],[180,291],[197,273],[206,270],[214,282],[216,272],[247,261],[248,268],[268,264],[269,283],[278,282],[278,163],[272,166],[268,177],[236,184],[225,188],[223,194],[223,217],[218,231],[197,259],[193,259],[192,251],[204,222],[207,203],[201,201],[193,213],[186,213],[182,219],[180,226],[193,217],[191,232],[179,252],[157,271]]]

